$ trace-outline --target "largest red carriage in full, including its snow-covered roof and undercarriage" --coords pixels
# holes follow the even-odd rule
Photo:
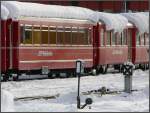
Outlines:
[[[41,73],[49,77],[57,76],[60,72],[74,74],[77,59],[84,61],[85,71],[92,69],[92,28],[96,24],[90,19],[94,13],[92,10],[79,7],[66,9],[64,6],[51,6],[49,9],[47,6],[43,14],[38,14],[36,12],[40,10],[36,6],[46,8],[45,5],[12,1],[3,4],[9,10],[14,9],[9,26],[8,58],[8,73],[14,80],[21,73]],[[23,5],[25,7],[20,10],[19,6]],[[31,8],[30,5],[33,10],[28,13],[26,9]],[[63,10],[70,10],[70,15],[65,15]],[[17,11],[20,11],[19,15],[15,13]]]

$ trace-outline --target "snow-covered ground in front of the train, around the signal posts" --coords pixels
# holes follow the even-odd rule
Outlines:
[[[106,74],[99,76],[86,76],[81,78],[81,92],[99,89],[102,86],[110,90],[124,89],[124,76],[122,74]],[[1,89],[5,89],[15,98],[31,96],[53,96],[59,94],[56,99],[18,100],[14,102],[15,111],[20,112],[131,112],[149,111],[149,70],[136,70],[133,74],[133,89],[138,91],[127,94],[82,95],[81,104],[85,98],[91,97],[93,104],[91,109],[85,107],[82,110],[76,108],[77,78],[27,80],[19,82],[3,82]]]

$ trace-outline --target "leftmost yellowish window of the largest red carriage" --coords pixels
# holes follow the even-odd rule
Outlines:
[[[23,44],[32,44],[32,26],[25,26]]]

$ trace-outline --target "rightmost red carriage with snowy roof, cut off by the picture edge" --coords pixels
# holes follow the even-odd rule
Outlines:
[[[132,26],[128,29],[130,59],[137,68],[149,68],[149,13],[122,13]]]

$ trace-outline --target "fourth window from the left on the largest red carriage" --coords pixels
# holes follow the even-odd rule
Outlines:
[[[49,43],[56,44],[57,38],[57,28],[56,27],[49,27]]]

